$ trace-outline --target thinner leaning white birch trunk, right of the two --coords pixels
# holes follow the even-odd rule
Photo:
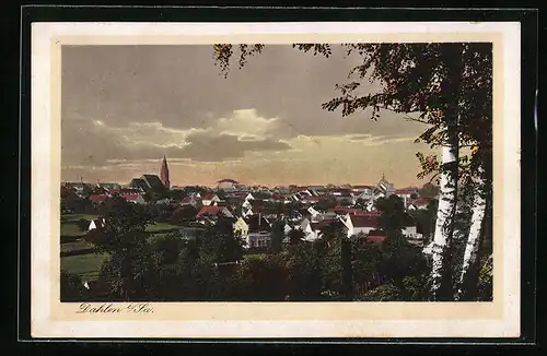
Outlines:
[[[469,270],[469,265],[472,265],[476,258],[477,251],[479,247],[479,237],[482,233],[482,222],[485,219],[486,214],[486,199],[484,197],[484,180],[481,178],[482,167],[479,167],[478,177],[476,178],[476,183],[478,189],[475,192],[475,198],[473,202],[473,216],[472,216],[472,225],[469,229],[469,236],[467,238],[467,245],[465,247],[464,260],[462,264],[462,274],[459,276],[459,284],[465,278],[467,271]],[[458,295],[462,290],[458,290]]]

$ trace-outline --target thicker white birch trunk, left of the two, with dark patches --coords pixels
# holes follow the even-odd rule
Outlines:
[[[459,151],[456,128],[449,127],[447,134],[449,140],[442,146],[441,191],[432,246],[431,293],[435,300],[445,297],[441,289],[445,264],[444,254],[454,233],[454,215],[456,212],[457,161]]]

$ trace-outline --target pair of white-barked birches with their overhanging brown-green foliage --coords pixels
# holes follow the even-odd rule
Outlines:
[[[294,48],[329,57],[328,44],[294,44]],[[362,61],[351,69],[350,82],[336,85],[339,97],[323,104],[349,116],[372,108],[371,119],[382,110],[397,112],[407,120],[427,124],[417,138],[437,155],[417,153],[422,173],[440,183],[440,201],[433,236],[430,274],[434,300],[465,298],[465,286],[477,285],[486,225],[491,218],[492,155],[492,46],[488,43],[345,44],[348,55]],[[214,45],[216,63],[228,74],[235,50],[243,68],[264,45]],[[369,80],[380,82],[377,93],[359,93]],[[467,150],[467,152],[465,151]],[[465,189],[458,189],[465,187]],[[457,237],[455,218],[463,197],[473,194],[473,214],[466,234],[465,252],[454,264]],[[474,272],[475,271],[475,272]]]

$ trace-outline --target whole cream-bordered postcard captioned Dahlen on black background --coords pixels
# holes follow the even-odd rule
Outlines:
[[[33,337],[516,337],[519,23],[33,23]]]

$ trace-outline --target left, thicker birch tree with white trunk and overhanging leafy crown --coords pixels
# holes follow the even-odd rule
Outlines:
[[[461,163],[459,150],[466,144],[480,143],[488,153],[491,132],[491,44],[347,44],[348,55],[358,52],[362,63],[350,71],[350,83],[336,85],[341,96],[323,104],[323,108],[335,110],[342,107],[342,116],[372,108],[371,118],[377,120],[380,110],[403,114],[407,119],[428,124],[417,139],[431,147],[442,149],[442,161],[435,156],[417,153],[423,178],[434,174],[440,180],[440,202],[434,230],[431,292],[433,299],[453,298],[451,265],[445,254],[450,250],[454,233],[453,218],[456,211],[457,181]],[[294,44],[304,52],[329,57],[331,46],[327,44]],[[260,54],[264,45],[238,45],[240,68],[246,58]],[[216,61],[226,75],[233,45],[216,45]],[[353,75],[353,78],[351,78]],[[356,78],[357,76],[357,78]],[[362,81],[379,81],[383,87],[377,93],[359,94]],[[410,116],[417,114],[418,116]],[[482,130],[486,128],[486,131]],[[485,155],[484,157],[488,156]],[[485,159],[475,157],[468,166],[474,176]],[[475,168],[474,168],[475,167]]]

